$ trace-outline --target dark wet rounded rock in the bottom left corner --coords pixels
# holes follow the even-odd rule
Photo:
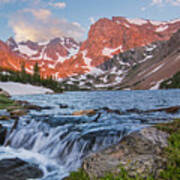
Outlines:
[[[37,165],[29,164],[18,158],[0,161],[0,179],[2,180],[27,180],[42,176],[43,172]]]

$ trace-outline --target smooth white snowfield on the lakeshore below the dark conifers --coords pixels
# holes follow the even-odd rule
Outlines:
[[[12,96],[53,93],[51,89],[15,82],[0,82],[0,88]]]

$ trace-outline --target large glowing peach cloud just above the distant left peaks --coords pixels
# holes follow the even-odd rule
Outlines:
[[[79,23],[56,18],[46,9],[22,10],[10,18],[9,25],[12,27],[17,41],[43,42],[62,36],[81,41],[85,33]]]

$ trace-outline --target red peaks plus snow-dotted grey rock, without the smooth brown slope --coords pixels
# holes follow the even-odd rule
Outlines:
[[[87,40],[81,44],[67,37],[43,43],[17,43],[13,38],[6,43],[0,42],[0,66],[19,71],[24,62],[26,71],[33,73],[33,66],[38,62],[42,77],[64,79],[65,84],[73,85],[75,79],[76,85],[92,88],[87,83],[93,84],[95,78],[95,89],[120,88],[119,84],[129,87],[129,80],[128,84],[124,81],[130,69],[149,62],[158,51],[156,46],[163,44],[160,41],[169,40],[179,28],[178,19],[156,22],[124,17],[103,18],[91,26]],[[163,51],[159,53],[164,54]],[[87,76],[92,80],[89,81]]]

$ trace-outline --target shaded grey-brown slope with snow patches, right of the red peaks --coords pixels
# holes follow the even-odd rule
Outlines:
[[[180,71],[180,29],[170,40],[157,41],[114,55],[98,71],[65,79],[75,89],[158,89]],[[98,73],[97,73],[98,72]]]

